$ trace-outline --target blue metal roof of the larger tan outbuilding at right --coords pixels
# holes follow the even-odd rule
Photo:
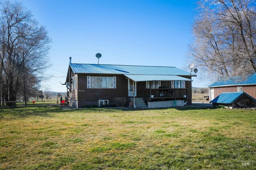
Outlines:
[[[249,76],[246,80],[240,81],[240,82],[235,80],[219,80],[208,87],[252,85],[252,84],[256,84],[256,74],[253,74],[252,76]]]

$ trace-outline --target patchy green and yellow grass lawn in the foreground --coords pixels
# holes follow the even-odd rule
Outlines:
[[[255,169],[256,110],[0,109],[0,169]]]

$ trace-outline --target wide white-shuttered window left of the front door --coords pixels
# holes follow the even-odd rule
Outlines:
[[[87,76],[87,88],[116,88],[116,76],[91,77]]]

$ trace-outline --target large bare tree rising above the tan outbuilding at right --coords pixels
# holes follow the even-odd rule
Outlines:
[[[256,1],[199,0],[189,61],[211,76],[256,73]]]

